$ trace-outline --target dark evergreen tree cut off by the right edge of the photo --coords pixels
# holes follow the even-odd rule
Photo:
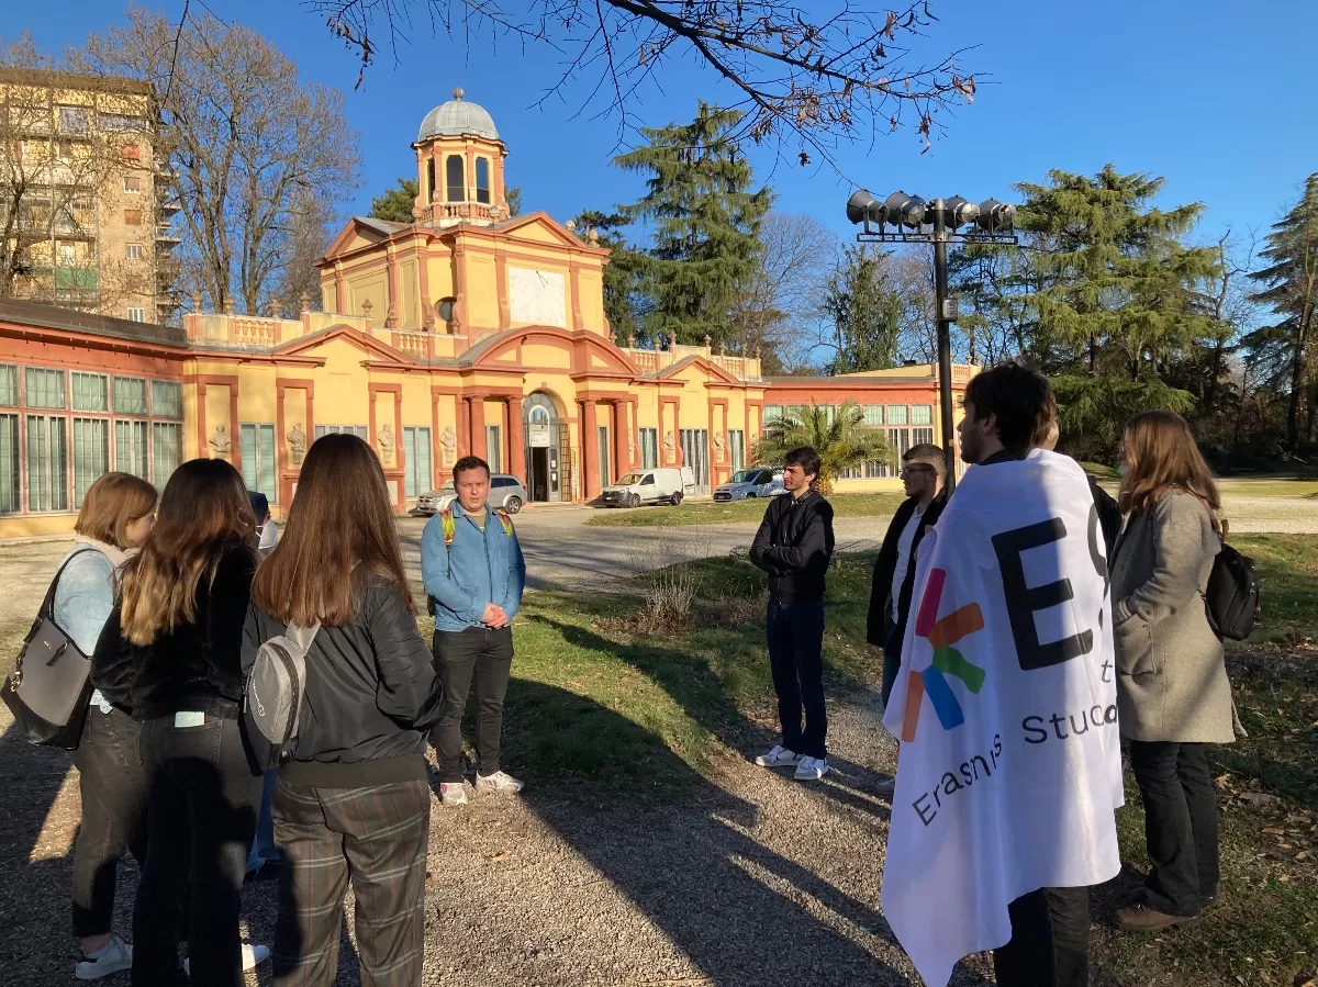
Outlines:
[[[1318,328],[1318,173],[1309,175],[1300,202],[1285,219],[1275,223],[1263,250],[1268,266],[1249,277],[1267,285],[1251,298],[1281,318],[1275,325],[1246,337],[1265,372],[1289,391],[1286,406],[1286,445],[1300,447],[1300,422],[1307,416],[1305,431],[1315,439],[1314,409],[1318,395],[1310,389],[1314,380],[1309,344]]]

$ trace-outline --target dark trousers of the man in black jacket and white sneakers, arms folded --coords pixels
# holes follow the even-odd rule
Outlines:
[[[792,754],[822,758],[828,737],[828,713],[824,709],[824,601],[780,604],[770,600],[764,625],[783,746]]]

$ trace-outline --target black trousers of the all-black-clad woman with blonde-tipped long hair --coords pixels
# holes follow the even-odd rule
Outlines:
[[[239,907],[261,806],[261,775],[237,719],[142,723],[149,785],[146,867],[133,909],[133,987],[182,987],[178,922],[190,901],[191,987],[243,987]]]

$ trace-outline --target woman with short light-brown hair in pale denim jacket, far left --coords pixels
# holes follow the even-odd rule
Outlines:
[[[83,495],[74,550],[61,564],[53,617],[78,650],[91,655],[115,607],[117,572],[156,521],[156,488],[130,473],[105,473]],[[146,780],[137,754],[138,725],[94,692],[78,750],[82,822],[74,846],[74,936],[82,940],[79,980],[127,970],[133,947],[111,933],[119,860],[146,862]]]

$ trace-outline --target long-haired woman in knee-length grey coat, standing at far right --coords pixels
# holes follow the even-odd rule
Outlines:
[[[1144,803],[1149,876],[1124,929],[1198,921],[1218,893],[1217,796],[1205,745],[1235,739],[1222,642],[1203,592],[1222,551],[1220,501],[1185,419],[1144,411],[1126,426],[1112,555],[1116,704]]]

